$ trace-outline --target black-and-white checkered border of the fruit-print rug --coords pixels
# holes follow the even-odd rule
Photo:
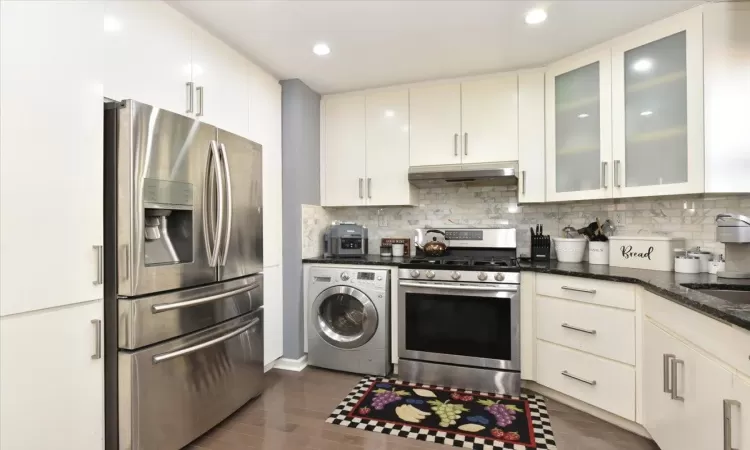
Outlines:
[[[418,439],[420,441],[435,442],[438,444],[445,444],[453,447],[470,448],[474,450],[557,450],[557,446],[555,445],[555,438],[552,434],[552,424],[549,419],[549,413],[547,412],[547,405],[544,403],[544,397],[541,397],[539,395],[521,394],[520,397],[511,397],[514,399],[524,399],[528,401],[529,410],[531,412],[531,421],[534,427],[534,440],[536,441],[536,446],[533,447],[512,442],[501,442],[492,439],[466,436],[460,434],[460,432],[455,433],[453,431],[434,431],[418,426],[398,425],[389,422],[381,422],[379,420],[349,417],[348,414],[352,411],[352,409],[354,409],[355,406],[357,406],[357,403],[362,398],[362,396],[367,394],[368,389],[373,383],[398,383],[404,386],[425,389],[449,389],[450,391],[459,392],[462,394],[484,396],[494,395],[491,393],[480,391],[444,388],[443,386],[438,385],[407,383],[405,381],[400,381],[393,378],[366,376],[362,378],[356,386],[354,386],[354,388],[346,397],[344,397],[344,400],[342,400],[341,403],[339,403],[339,405],[336,407],[336,409],[333,410],[328,419],[326,419],[326,422],[349,428],[356,428],[359,430],[374,431],[376,433],[390,434],[392,436]]]

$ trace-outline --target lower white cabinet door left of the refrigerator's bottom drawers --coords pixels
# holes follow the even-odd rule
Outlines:
[[[0,318],[0,448],[104,448],[102,317],[95,301]]]

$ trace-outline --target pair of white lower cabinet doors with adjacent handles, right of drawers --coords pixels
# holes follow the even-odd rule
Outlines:
[[[723,448],[732,373],[644,321],[644,425],[662,450]]]

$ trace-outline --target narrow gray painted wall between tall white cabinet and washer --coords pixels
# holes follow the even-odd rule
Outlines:
[[[281,82],[284,357],[304,354],[302,205],[320,204],[320,94],[300,80]]]

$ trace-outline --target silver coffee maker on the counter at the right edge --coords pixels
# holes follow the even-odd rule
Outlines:
[[[716,216],[716,240],[726,250],[726,268],[721,278],[750,278],[750,218],[740,214]]]

